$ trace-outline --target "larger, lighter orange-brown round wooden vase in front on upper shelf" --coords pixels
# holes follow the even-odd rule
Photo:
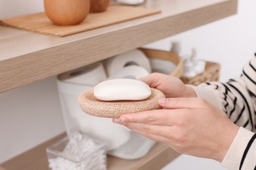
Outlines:
[[[44,0],[45,13],[56,25],[77,25],[90,9],[90,0]]]

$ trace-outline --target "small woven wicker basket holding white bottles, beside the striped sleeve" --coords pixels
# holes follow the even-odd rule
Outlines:
[[[181,76],[181,80],[184,84],[192,84],[194,86],[202,82],[218,81],[220,70],[221,65],[219,63],[206,61],[205,71],[203,73],[194,77]]]

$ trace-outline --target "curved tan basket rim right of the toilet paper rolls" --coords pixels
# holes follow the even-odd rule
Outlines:
[[[148,58],[163,59],[175,63],[176,67],[169,75],[181,77],[183,74],[183,60],[182,58],[173,52],[163,50],[153,50],[147,48],[139,48]]]

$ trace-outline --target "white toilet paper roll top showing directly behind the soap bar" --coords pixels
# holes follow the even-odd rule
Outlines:
[[[149,75],[149,73],[148,71],[146,71],[146,69],[144,69],[144,67],[140,67],[139,65],[128,65],[126,67],[123,67],[113,75],[109,76],[108,80],[116,78],[139,79],[147,75]]]

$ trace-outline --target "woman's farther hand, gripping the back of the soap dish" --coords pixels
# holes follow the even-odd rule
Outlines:
[[[196,92],[190,86],[186,86],[175,76],[152,73],[140,78],[151,88],[156,88],[165,94],[165,97],[197,97]]]

